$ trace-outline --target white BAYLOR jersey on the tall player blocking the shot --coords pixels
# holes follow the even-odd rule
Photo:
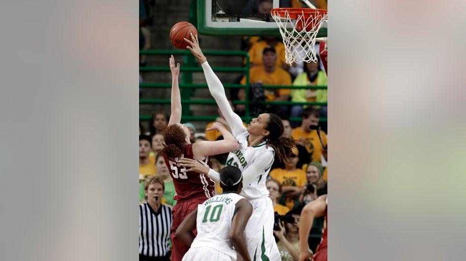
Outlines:
[[[245,169],[252,166],[254,161],[260,161],[262,165],[257,166],[258,169],[252,173],[254,177],[251,177],[251,183],[245,184],[243,182],[243,190],[240,195],[244,196],[247,200],[269,197],[269,191],[265,187],[265,180],[267,179],[267,175],[269,175],[272,163],[274,163],[275,152],[271,147],[265,145],[265,141],[257,146],[248,147],[249,133],[246,128],[240,128],[238,132],[233,133],[233,135],[240,147],[238,150],[228,154],[226,165],[236,166],[242,173],[244,173]],[[245,182],[249,181],[245,179]]]

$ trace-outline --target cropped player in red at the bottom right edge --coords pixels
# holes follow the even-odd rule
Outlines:
[[[326,261],[327,260],[327,229],[328,229],[328,216],[327,216],[327,195],[322,195],[316,200],[307,204],[301,212],[301,226],[299,229],[299,261],[309,260],[313,261]],[[313,222],[316,218],[325,216],[324,218],[324,231],[322,233],[321,243],[317,246],[316,253],[312,255],[309,250],[308,236],[311,232]]]

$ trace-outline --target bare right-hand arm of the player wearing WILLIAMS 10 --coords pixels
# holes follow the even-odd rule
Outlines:
[[[228,232],[230,242],[240,253],[244,260],[250,261],[246,239],[244,238],[244,229],[252,214],[252,205],[246,199],[241,199],[236,203],[237,212],[231,221],[231,228]]]

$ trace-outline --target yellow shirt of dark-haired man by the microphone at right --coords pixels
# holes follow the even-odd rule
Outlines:
[[[327,146],[327,135],[323,130],[320,132],[320,137],[322,138],[324,146]],[[320,144],[319,136],[317,135],[317,130],[311,130],[310,133],[305,133],[301,127],[296,127],[291,133],[291,138],[296,141],[299,141],[300,138],[306,138],[305,147],[309,152],[309,157],[311,161],[321,162],[320,156],[322,155],[322,146]]]

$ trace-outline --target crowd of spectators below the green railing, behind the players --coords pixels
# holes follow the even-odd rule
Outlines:
[[[221,113],[219,114],[219,122],[222,122],[223,117]],[[281,219],[281,222],[277,223],[274,236],[282,260],[297,260],[299,256],[299,226],[302,222],[301,211],[303,207],[317,200],[319,196],[327,194],[326,150],[322,148],[317,132],[321,132],[320,136],[324,146],[327,146],[326,134],[321,130],[309,128],[309,125],[319,124],[319,117],[319,109],[308,107],[303,110],[302,124],[295,128],[291,127],[289,119],[282,119],[284,126],[283,137],[292,137],[296,144],[292,149],[292,154],[284,162],[274,162],[266,181],[274,211]],[[150,136],[150,132],[147,133],[149,135],[145,135],[144,128],[140,125],[141,204],[148,201],[147,185],[144,186],[144,181],[147,181],[151,175],[159,177],[160,181],[163,182],[164,191],[160,199],[161,204],[173,207],[177,203],[173,199],[175,188],[172,177],[160,154],[160,150],[163,148],[162,134],[164,128],[167,127],[168,121],[169,118],[166,114],[155,113],[150,126],[153,136]],[[209,123],[206,129],[212,123]],[[222,124],[229,129],[226,122]],[[186,122],[185,125],[191,135],[196,132],[193,124]],[[209,137],[209,139],[206,137]],[[199,135],[197,138],[192,137],[191,143],[219,139],[222,139],[222,136],[216,130],[207,130],[204,135]],[[220,172],[225,167],[226,157],[218,156],[221,155],[211,156],[210,161],[212,162],[212,168]],[[221,193],[220,184],[217,183],[215,194],[220,195]],[[312,251],[312,253],[316,253],[317,246],[321,243],[324,222],[324,216],[316,216],[310,225],[308,250]]]

